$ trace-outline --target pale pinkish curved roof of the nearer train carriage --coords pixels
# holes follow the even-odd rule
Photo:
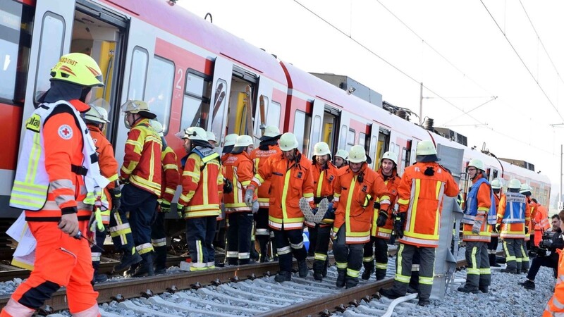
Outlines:
[[[260,75],[286,85],[286,76],[274,56],[181,6],[164,0],[104,1],[111,6],[117,6],[120,10],[128,11],[135,18],[140,18],[161,30],[186,39],[216,55],[230,58],[252,68]],[[207,57],[215,58],[215,56]]]

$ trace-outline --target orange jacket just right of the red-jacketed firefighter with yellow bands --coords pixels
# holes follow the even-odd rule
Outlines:
[[[252,161],[245,151],[230,154],[223,161],[224,176],[233,183],[233,192],[223,195],[227,213],[251,211],[251,207],[245,204],[245,192],[255,175],[252,168]]]

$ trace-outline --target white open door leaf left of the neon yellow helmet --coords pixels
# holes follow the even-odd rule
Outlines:
[[[30,65],[25,87],[23,107],[23,142],[25,121],[35,110],[33,102],[50,87],[49,71],[61,55],[71,49],[71,37],[75,15],[75,0],[37,1],[30,49]]]

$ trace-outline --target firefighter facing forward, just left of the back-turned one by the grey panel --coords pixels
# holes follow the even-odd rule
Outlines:
[[[398,156],[390,151],[384,153],[380,160],[380,168],[376,173],[381,175],[384,180],[384,184],[390,192],[390,206],[393,207],[398,200],[398,186],[401,180],[400,175],[398,175]],[[382,280],[386,277],[388,241],[393,228],[392,212],[393,208],[388,208],[387,211],[379,208],[374,209],[370,242],[364,244],[362,280],[368,280],[374,272],[374,258],[376,258],[376,280]]]

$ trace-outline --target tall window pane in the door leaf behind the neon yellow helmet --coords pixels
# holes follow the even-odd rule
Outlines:
[[[39,41],[39,61],[37,62],[37,78],[35,80],[35,98],[47,92],[51,68],[63,55],[63,37],[65,20],[61,15],[45,13],[42,21],[41,40]]]

